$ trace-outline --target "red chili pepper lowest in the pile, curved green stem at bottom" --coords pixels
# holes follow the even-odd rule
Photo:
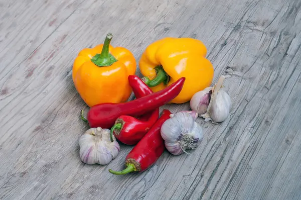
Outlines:
[[[109,169],[109,172],[116,175],[123,175],[133,171],[142,172],[152,166],[164,152],[165,145],[161,137],[161,127],[166,120],[170,119],[171,114],[169,110],[163,111],[162,116],[156,124],[127,154],[125,158],[126,168],[124,170],[113,171]]]

